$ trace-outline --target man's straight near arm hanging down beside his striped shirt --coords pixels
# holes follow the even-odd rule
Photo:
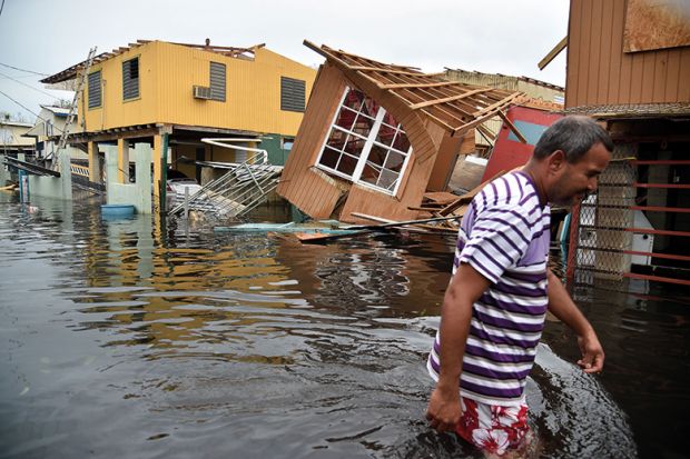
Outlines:
[[[472,266],[461,263],[445,291],[441,308],[441,373],[426,410],[426,419],[438,431],[454,430],[460,420],[460,372],[472,305],[489,286],[489,279]]]

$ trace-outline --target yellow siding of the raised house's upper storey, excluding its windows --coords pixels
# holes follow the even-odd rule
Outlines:
[[[122,100],[122,62],[139,57],[139,98]],[[210,62],[226,66],[226,100],[195,99],[193,86],[209,86]],[[306,82],[308,98],[316,70],[267,49],[255,60],[152,41],[92,66],[105,81],[102,104],[83,108],[88,131],[146,123],[170,123],[295,136],[303,113],[280,110],[280,77]],[[83,98],[88,101],[87,88]],[[306,100],[305,100],[306,103]]]

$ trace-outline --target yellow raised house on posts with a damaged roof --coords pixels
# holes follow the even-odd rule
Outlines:
[[[78,79],[86,61],[43,79]],[[117,142],[119,180],[129,148],[154,147],[155,194],[167,162],[200,181],[194,161],[240,159],[203,138],[250,138],[283,164],[297,133],[316,70],[265,48],[217,47],[138,40],[97,56],[79,94],[80,127],[69,143],[89,152],[90,180],[101,181],[98,143]],[[164,156],[164,143],[168,144]],[[252,146],[252,143],[249,144]]]

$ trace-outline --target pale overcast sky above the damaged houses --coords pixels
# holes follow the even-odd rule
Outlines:
[[[57,73],[137,39],[250,47],[307,66],[305,39],[427,72],[445,67],[565,83],[565,52],[536,63],[568,33],[569,0],[0,0],[0,91],[32,112],[72,93],[47,90]],[[10,77],[10,78],[8,78]],[[16,81],[17,80],[17,81]],[[28,88],[31,87],[31,88]],[[43,93],[46,92],[46,93]],[[0,93],[0,111],[34,116]]]

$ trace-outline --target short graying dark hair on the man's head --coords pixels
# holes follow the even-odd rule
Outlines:
[[[570,116],[561,118],[544,131],[534,147],[533,154],[536,159],[544,159],[554,151],[562,150],[565,160],[574,163],[597,143],[603,144],[609,152],[613,151],[613,141],[594,120]]]

